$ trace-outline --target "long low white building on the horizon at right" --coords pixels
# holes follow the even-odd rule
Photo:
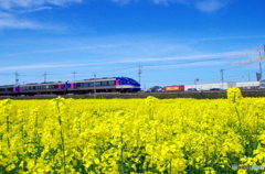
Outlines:
[[[231,87],[239,87],[242,89],[257,89],[259,87],[259,81],[186,85],[184,90],[188,90],[189,88],[197,88],[198,90],[210,90],[211,88],[227,89]]]

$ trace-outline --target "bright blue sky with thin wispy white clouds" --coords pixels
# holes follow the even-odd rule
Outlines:
[[[17,72],[20,84],[44,73],[139,80],[139,65],[142,88],[219,83],[221,69],[224,81],[255,80],[257,62],[231,63],[264,55],[264,0],[0,1],[0,85]]]

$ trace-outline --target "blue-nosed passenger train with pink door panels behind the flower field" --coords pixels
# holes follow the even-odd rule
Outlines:
[[[140,84],[129,77],[103,77],[75,81],[47,81],[0,86],[0,96],[84,95],[92,93],[136,93]]]

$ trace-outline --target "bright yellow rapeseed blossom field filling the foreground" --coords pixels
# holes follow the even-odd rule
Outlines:
[[[0,139],[4,174],[264,173],[265,98],[4,99]]]

